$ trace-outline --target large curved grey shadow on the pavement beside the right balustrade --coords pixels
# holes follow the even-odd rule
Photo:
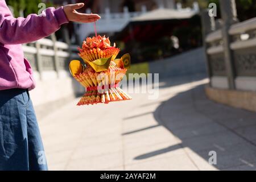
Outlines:
[[[166,127],[182,143],[134,159],[184,148],[199,169],[198,159],[208,162],[209,152],[215,151],[217,169],[256,170],[256,113],[210,101],[204,86],[197,86],[163,102],[154,111],[154,117],[159,126]]]

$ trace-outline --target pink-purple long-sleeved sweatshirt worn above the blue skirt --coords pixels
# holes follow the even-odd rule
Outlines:
[[[34,42],[68,23],[63,7],[48,8],[42,14],[14,18],[5,0],[0,0],[0,90],[34,89],[30,63],[24,58],[23,43]]]

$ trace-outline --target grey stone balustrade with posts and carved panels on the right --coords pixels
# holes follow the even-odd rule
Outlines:
[[[223,1],[222,11],[236,7],[231,6],[233,3],[232,0]],[[207,31],[205,28],[204,31],[210,85],[214,88],[256,91],[256,18],[238,22],[236,11],[229,12],[229,16],[222,17],[219,29],[209,28]],[[210,21],[207,12],[202,16]],[[232,21],[226,23],[228,19],[225,18]]]

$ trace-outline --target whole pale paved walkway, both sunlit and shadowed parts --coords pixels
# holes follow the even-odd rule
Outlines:
[[[207,82],[171,78],[158,100],[61,107],[39,122],[49,169],[256,169],[256,114],[209,101]]]

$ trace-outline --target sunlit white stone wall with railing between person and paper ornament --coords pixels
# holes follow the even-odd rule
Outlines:
[[[68,62],[78,59],[77,46],[41,39],[23,45],[23,51],[34,68],[36,88],[30,92],[34,106],[54,104],[55,101],[84,93],[84,89],[71,76],[67,67],[63,67],[68,64],[63,59]],[[46,61],[45,56],[51,58],[50,61]]]

